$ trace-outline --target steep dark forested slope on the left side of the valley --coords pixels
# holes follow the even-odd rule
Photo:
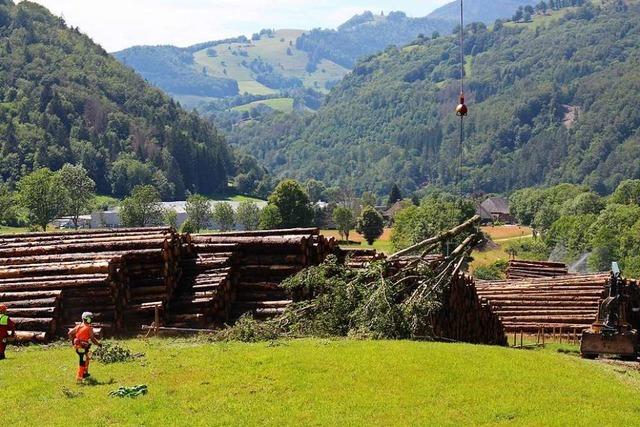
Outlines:
[[[210,123],[42,6],[0,0],[0,178],[65,163],[100,193],[153,183],[166,198],[222,191],[232,167]]]

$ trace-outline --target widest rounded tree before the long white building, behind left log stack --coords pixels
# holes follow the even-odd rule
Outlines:
[[[125,227],[160,225],[163,213],[160,193],[152,185],[134,187],[131,196],[120,205],[120,220]]]

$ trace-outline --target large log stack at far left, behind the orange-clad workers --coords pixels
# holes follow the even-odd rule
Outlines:
[[[179,239],[169,228],[31,233],[0,238],[0,302],[20,340],[63,335],[83,311],[103,333],[153,317],[177,285]]]

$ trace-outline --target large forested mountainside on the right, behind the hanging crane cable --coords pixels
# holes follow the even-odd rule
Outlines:
[[[640,7],[604,4],[466,28],[462,190],[608,193],[640,177]],[[419,39],[359,62],[314,115],[245,122],[231,141],[281,176],[380,194],[454,185],[459,75],[455,37]]]

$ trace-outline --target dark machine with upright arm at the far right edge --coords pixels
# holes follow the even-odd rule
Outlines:
[[[636,360],[638,333],[629,323],[628,315],[634,316],[637,311],[637,286],[627,284],[622,279],[618,263],[614,262],[611,266],[607,291],[608,296],[600,303],[595,323],[591,325],[591,329],[582,332],[580,354],[588,359],[595,359],[600,355],[614,355]]]

